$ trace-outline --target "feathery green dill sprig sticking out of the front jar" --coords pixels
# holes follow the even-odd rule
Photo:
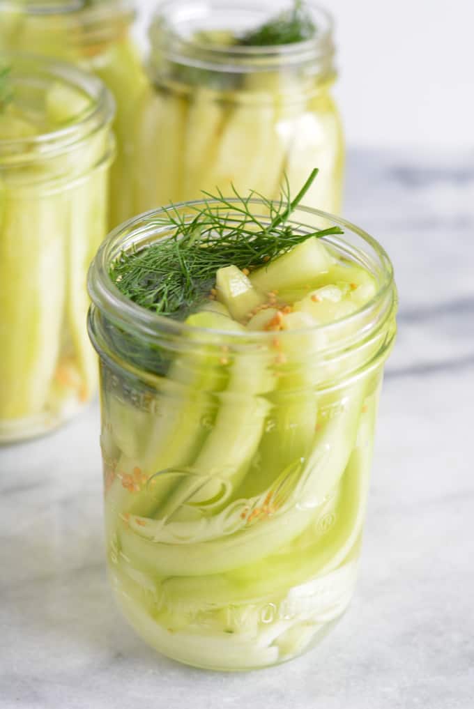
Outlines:
[[[317,172],[312,170],[294,199],[290,199],[286,179],[276,201],[254,191],[242,197],[235,188],[235,196],[226,199],[218,189],[217,195],[203,192],[203,206],[189,205],[186,211],[174,206],[165,209],[154,224],[168,228],[169,233],[137,252],[123,252],[112,264],[111,279],[137,305],[171,318],[185,318],[208,298],[218,269],[231,265],[254,269],[312,236],[342,234],[339,227],[300,233],[287,223]],[[267,217],[251,211],[255,197]]]

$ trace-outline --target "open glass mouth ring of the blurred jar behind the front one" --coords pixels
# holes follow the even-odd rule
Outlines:
[[[177,64],[230,73],[269,72],[282,66],[307,67],[315,74],[334,73],[332,16],[312,0],[305,3],[315,23],[311,38],[261,46],[225,45],[199,38],[199,33],[210,29],[232,30],[238,36],[239,32],[261,26],[290,5],[288,0],[165,0],[149,28],[152,50]],[[159,60],[159,56],[156,58]]]

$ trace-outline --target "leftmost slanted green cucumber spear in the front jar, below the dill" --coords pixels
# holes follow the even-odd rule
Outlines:
[[[218,330],[242,329],[231,318],[212,311],[190,316],[188,324]],[[189,337],[192,339],[193,334]],[[129,407],[130,435],[140,440],[140,454],[131,459],[125,454],[125,450],[130,450],[129,435],[123,444],[116,440],[122,455],[117,465],[118,477],[106,497],[107,517],[112,527],[118,514],[136,513],[148,517],[179,484],[181,469],[191,464],[208,435],[209,426],[213,425],[217,412],[213,396],[226,381],[227,367],[220,364],[215,347],[203,347],[190,354],[180,354],[171,364],[167,377],[157,381],[157,407],[145,427],[141,412],[136,414],[137,409]],[[126,425],[121,428],[128,432]],[[115,436],[117,432],[115,430]],[[130,491],[123,482],[135,470],[139,470],[147,482],[140,484],[137,491]]]

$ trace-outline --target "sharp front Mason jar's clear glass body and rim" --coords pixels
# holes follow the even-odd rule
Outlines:
[[[165,235],[158,216],[115,230],[89,272],[113,591],[169,657],[276,664],[318,642],[351,600],[395,337],[392,267],[360,229],[298,208],[295,228],[342,226],[325,243],[371,272],[376,296],[278,342],[191,328],[132,303],[108,275],[123,250]]]

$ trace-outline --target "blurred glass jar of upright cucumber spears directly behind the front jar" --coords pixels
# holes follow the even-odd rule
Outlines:
[[[330,89],[335,79],[332,21],[308,3],[310,40],[266,47],[224,46],[293,3],[168,0],[150,29],[151,85],[137,109],[135,211],[254,189],[293,194],[313,167],[309,206],[338,213],[344,145]],[[210,38],[214,38],[213,41]],[[220,44],[218,43],[220,41]]]

